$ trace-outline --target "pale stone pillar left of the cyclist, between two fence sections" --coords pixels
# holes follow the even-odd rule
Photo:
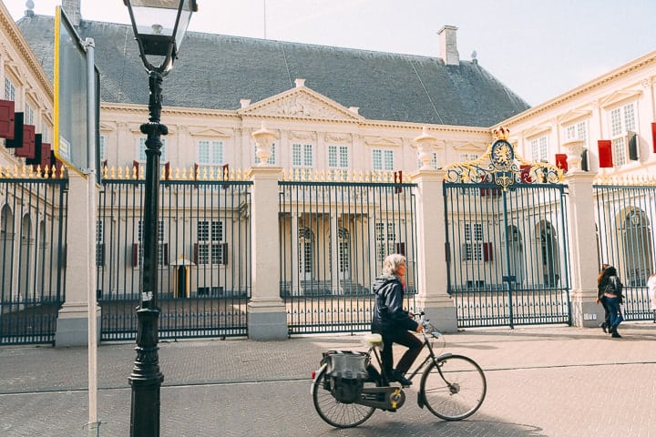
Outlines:
[[[287,311],[280,296],[278,198],[282,168],[251,168],[251,340],[286,340]]]

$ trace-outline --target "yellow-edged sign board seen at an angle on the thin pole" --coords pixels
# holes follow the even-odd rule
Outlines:
[[[95,73],[95,72],[94,72]],[[92,73],[92,74],[94,74]],[[87,50],[61,6],[55,14],[55,156],[82,176],[89,163],[87,148]],[[99,98],[96,97],[97,102]]]

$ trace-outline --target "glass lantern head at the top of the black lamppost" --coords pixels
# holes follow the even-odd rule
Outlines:
[[[146,69],[166,75],[178,57],[191,14],[198,10],[196,0],[123,0],[128,6],[139,56]],[[158,56],[159,65],[148,56]]]

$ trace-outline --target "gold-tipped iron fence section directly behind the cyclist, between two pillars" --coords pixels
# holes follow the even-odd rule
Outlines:
[[[290,333],[369,330],[372,284],[391,253],[407,259],[406,305],[414,308],[415,184],[400,173],[291,179],[279,182]]]

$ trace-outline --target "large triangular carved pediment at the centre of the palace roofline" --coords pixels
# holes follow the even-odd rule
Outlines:
[[[238,111],[242,116],[363,120],[353,111],[306,86],[298,86]]]

